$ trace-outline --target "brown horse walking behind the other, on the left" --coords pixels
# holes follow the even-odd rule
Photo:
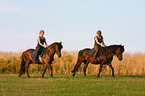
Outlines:
[[[58,57],[61,57],[61,49],[63,48],[62,42],[55,42],[51,44],[49,47],[44,49],[43,56],[41,57],[41,60],[38,60],[38,64],[45,64],[44,72],[42,74],[42,77],[44,78],[44,74],[49,67],[51,70],[51,77],[53,77],[52,73],[52,61],[54,60],[55,53],[58,55]],[[34,58],[31,58],[31,54],[33,53],[34,49],[28,49],[22,53],[22,60],[21,60],[21,67],[19,71],[20,77],[22,74],[27,72],[27,76],[30,78],[30,75],[28,73],[28,68],[31,63],[34,63]],[[39,57],[40,58],[40,57]]]

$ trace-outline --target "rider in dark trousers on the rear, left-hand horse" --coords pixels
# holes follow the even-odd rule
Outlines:
[[[39,55],[42,53],[42,50],[44,48],[46,48],[48,46],[47,42],[46,42],[46,39],[44,36],[44,31],[43,30],[40,30],[40,36],[38,37],[37,41],[38,41],[38,44],[37,44],[37,47],[36,47],[36,54],[35,54],[35,57],[34,57],[34,63],[38,63],[38,57]],[[44,45],[45,43],[45,45]]]

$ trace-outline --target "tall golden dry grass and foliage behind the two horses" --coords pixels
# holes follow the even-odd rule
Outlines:
[[[21,63],[21,52],[18,53],[4,53],[0,52],[0,73],[18,73]],[[74,68],[77,62],[78,52],[62,52],[62,57],[58,58],[55,55],[55,60],[53,61],[53,73],[59,74],[70,74],[71,70]],[[145,54],[135,53],[135,54],[123,54],[123,60],[118,61],[116,57],[112,62],[114,66],[115,75],[145,75]],[[43,65],[31,64],[29,67],[30,73],[42,73],[44,70]],[[82,63],[77,74],[83,73]],[[99,65],[89,64],[87,68],[87,74],[97,74]],[[47,71],[49,73],[49,71]],[[103,67],[101,74],[110,75],[111,69],[108,66]]]

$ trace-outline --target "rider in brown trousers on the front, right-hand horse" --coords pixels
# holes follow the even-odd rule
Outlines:
[[[103,36],[102,36],[102,33],[100,30],[98,30],[96,32],[97,36],[95,36],[95,44],[94,44],[94,49],[95,49],[95,53],[94,53],[94,56],[93,56],[93,60],[94,61],[97,61],[96,57],[98,56],[98,53],[100,51],[100,48],[101,46],[105,47],[105,43],[104,43],[104,40],[103,40]]]

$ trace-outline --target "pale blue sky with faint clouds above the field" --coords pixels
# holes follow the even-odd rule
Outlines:
[[[39,31],[63,50],[93,48],[97,30],[105,44],[145,53],[145,0],[0,0],[0,51],[35,48]]]

